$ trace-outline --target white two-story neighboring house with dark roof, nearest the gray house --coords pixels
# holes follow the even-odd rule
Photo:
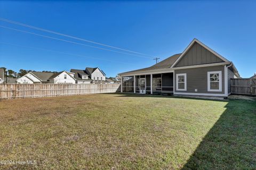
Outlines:
[[[86,67],[85,70],[71,69],[70,72],[75,73],[74,77],[78,84],[108,83],[106,74],[99,67]]]

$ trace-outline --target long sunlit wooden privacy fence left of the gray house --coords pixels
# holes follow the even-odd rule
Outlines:
[[[120,84],[0,84],[0,99],[102,94],[120,91]]]

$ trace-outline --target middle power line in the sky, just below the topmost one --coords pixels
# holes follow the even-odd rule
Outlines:
[[[44,35],[41,35],[41,34],[38,34],[38,33],[34,33],[34,32],[23,31],[23,30],[19,30],[19,29],[15,29],[15,28],[5,27],[5,26],[3,26],[3,25],[0,25],[0,27],[6,28],[6,29],[10,29],[10,30],[15,30],[15,31],[20,31],[20,32],[30,33],[30,34],[36,35],[36,36],[51,38],[51,39],[60,40],[60,41],[65,41],[65,42],[68,42],[68,43],[73,43],[73,44],[78,44],[78,45],[82,45],[82,46],[87,46],[87,47],[93,47],[93,48],[98,48],[98,49],[102,49],[102,50],[107,50],[107,51],[109,51],[109,52],[115,52],[115,53],[133,55],[133,56],[138,56],[138,57],[143,57],[143,58],[151,58],[151,57],[146,57],[146,56],[141,56],[141,55],[136,55],[136,54],[129,54],[129,53],[124,53],[124,52],[118,52],[118,51],[116,51],[116,50],[107,49],[107,48],[101,48],[101,47],[96,47],[96,46],[91,46],[91,45],[82,44],[82,43],[76,43],[76,42],[74,42],[74,41],[69,41],[69,40],[65,40],[65,39],[54,38],[54,37],[50,37],[50,36],[44,36]]]

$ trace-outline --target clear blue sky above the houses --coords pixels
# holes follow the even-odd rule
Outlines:
[[[183,52],[197,38],[233,61],[243,78],[256,72],[254,1],[1,1],[0,18],[158,56],[160,61]],[[103,47],[4,21],[0,25]],[[151,57],[115,53],[0,27],[0,67],[15,71],[100,67],[107,77],[114,77],[153,64]]]

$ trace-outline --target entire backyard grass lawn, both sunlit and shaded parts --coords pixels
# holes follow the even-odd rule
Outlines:
[[[256,169],[256,101],[98,94],[0,101],[1,169]]]

